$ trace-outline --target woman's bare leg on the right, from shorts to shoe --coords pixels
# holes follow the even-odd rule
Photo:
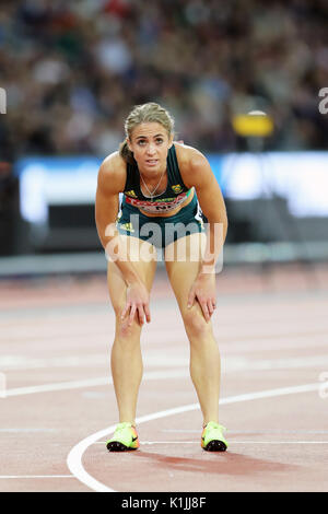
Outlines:
[[[200,248],[204,245],[204,233],[171,243],[165,248],[165,266],[190,341],[190,375],[206,424],[219,422],[220,353],[212,323],[206,322],[199,303],[195,301],[194,306],[187,308],[188,294],[200,269]]]

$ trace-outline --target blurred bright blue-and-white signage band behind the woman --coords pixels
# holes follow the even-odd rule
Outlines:
[[[233,200],[286,199],[294,217],[328,217],[328,152],[209,154],[223,196]],[[31,156],[20,160],[20,208],[31,223],[47,223],[49,206],[94,203],[102,157]]]

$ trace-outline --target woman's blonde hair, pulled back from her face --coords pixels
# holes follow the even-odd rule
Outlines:
[[[119,145],[120,156],[130,164],[136,163],[136,161],[133,153],[129,150],[127,139],[131,138],[132,131],[138,125],[144,122],[156,122],[162,125],[168,137],[174,133],[174,118],[164,107],[155,102],[136,105],[125,121],[126,139]]]

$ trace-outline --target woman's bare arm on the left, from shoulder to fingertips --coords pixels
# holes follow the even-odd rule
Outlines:
[[[95,222],[106,255],[115,261],[127,283],[127,303],[121,317],[124,318],[129,312],[129,325],[131,325],[136,312],[141,324],[143,324],[144,316],[150,322],[150,311],[148,290],[125,252],[116,227],[119,192],[124,190],[126,180],[124,170],[125,163],[116,153],[102,163],[97,177]]]

